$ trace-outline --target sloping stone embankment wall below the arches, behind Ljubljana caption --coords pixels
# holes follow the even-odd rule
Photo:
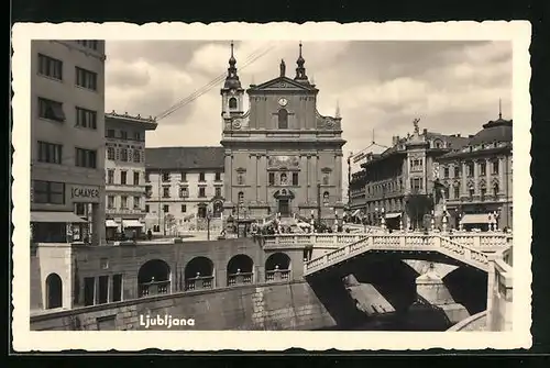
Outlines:
[[[146,330],[140,323],[146,315],[195,320],[194,326],[170,330],[318,330],[336,325],[308,283],[295,281],[157,295],[34,315],[31,330]]]

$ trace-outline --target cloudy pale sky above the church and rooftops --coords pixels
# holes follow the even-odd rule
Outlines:
[[[280,59],[294,77],[298,44],[235,41],[243,87],[278,77]],[[107,41],[106,47],[106,111],[142,116],[160,116],[205,90],[227,74],[230,57],[228,41]],[[420,129],[475,134],[498,118],[502,99],[503,118],[512,119],[510,42],[305,42],[302,56],[320,90],[318,111],[333,115],[340,107],[344,156],[367,148],[373,131],[377,144],[391,145],[392,136],[413,132],[415,118]],[[147,147],[219,145],[221,83],[158,120]]]

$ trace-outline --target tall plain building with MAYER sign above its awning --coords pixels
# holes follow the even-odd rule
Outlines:
[[[34,242],[105,242],[105,42],[31,43]]]

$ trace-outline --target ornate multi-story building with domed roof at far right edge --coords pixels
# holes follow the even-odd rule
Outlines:
[[[486,230],[513,227],[513,122],[496,121],[470,136],[460,149],[441,156],[439,177],[446,186],[451,223]]]

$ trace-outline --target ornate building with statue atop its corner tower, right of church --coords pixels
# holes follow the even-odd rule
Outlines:
[[[421,213],[407,211],[413,196],[428,198],[433,192],[437,172],[435,163],[453,148],[462,147],[468,137],[415,131],[406,137],[394,136],[392,146],[382,154],[366,156],[362,170],[352,175],[350,210],[361,212],[367,224],[380,224],[382,218],[391,227],[421,226]]]

